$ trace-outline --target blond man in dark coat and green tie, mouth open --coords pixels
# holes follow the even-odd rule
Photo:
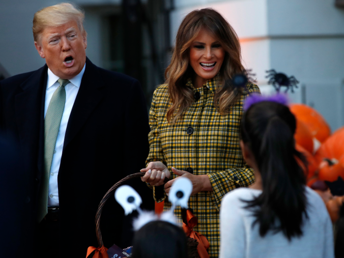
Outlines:
[[[117,181],[139,172],[148,154],[141,86],[86,57],[83,20],[70,3],[36,12],[34,45],[46,64],[0,82],[0,129],[19,144],[25,169],[18,175],[27,182],[20,190],[26,205],[21,244],[35,247],[21,257],[85,258],[87,247],[98,245],[98,204]],[[132,184],[149,199],[140,182]],[[130,244],[125,219],[110,199],[101,224],[106,247]]]

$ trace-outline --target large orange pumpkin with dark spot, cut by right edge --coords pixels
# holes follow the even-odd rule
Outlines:
[[[319,165],[319,179],[336,181],[344,178],[344,129],[337,130],[315,153]]]

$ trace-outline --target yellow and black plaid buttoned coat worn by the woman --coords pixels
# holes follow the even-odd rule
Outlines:
[[[191,196],[189,207],[198,217],[198,225],[194,230],[203,234],[210,243],[210,257],[218,257],[219,254],[219,210],[223,196],[254,181],[253,171],[246,166],[239,146],[239,124],[245,97],[249,93],[259,92],[258,86],[247,85],[230,114],[221,115],[214,106],[216,78],[200,88],[194,88],[191,80],[188,81],[187,86],[194,93],[199,92],[201,98],[195,100],[174,125],[169,124],[166,118],[166,111],[171,106],[168,85],[156,88],[149,111],[150,151],[146,160],[147,164],[161,161],[170,172],[173,166],[178,170],[192,171],[195,175],[209,176],[213,192]],[[171,179],[175,177],[172,173]],[[155,201],[165,199],[164,195],[156,200],[157,193],[153,190]],[[165,201],[165,209],[170,207],[171,204]],[[175,210],[175,214],[181,218],[180,208]]]

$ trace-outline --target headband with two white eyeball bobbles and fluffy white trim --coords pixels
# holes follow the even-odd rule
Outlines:
[[[155,220],[162,220],[178,225],[173,211],[176,206],[188,208],[188,201],[192,192],[192,183],[186,177],[177,177],[169,193],[169,201],[172,203],[170,210],[163,212],[159,216],[153,211],[143,211],[140,208],[142,199],[140,195],[130,186],[122,185],[115,191],[115,200],[124,209],[125,215],[132,213],[134,210],[139,212],[139,217],[134,219],[134,230],[139,230],[143,225]]]

